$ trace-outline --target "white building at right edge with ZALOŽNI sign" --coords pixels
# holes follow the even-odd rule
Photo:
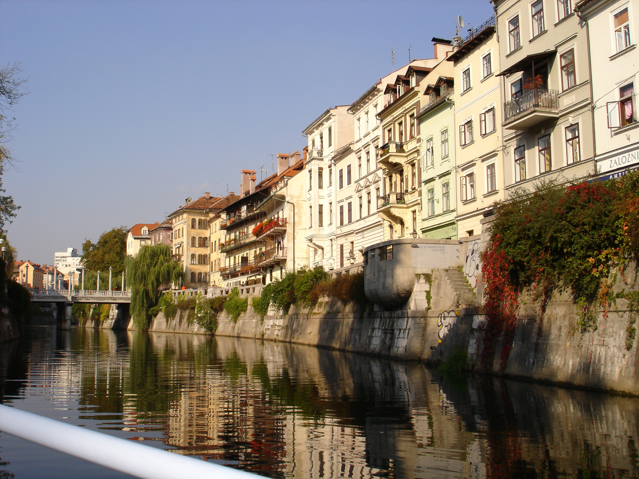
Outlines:
[[[583,0],[576,11],[589,33],[597,173],[616,178],[639,167],[639,1]],[[579,155],[578,137],[566,148]]]

